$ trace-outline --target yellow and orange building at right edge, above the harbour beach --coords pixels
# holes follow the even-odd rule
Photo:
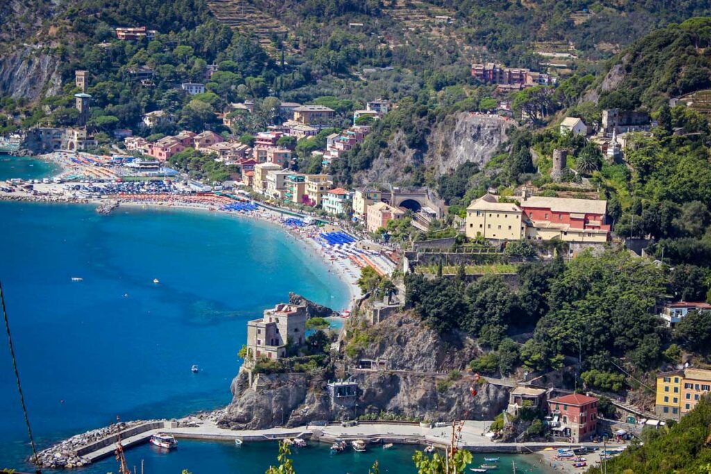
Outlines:
[[[703,394],[711,392],[711,370],[686,368],[657,376],[655,413],[679,419],[693,410]]]

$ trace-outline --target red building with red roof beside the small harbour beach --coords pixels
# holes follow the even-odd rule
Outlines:
[[[582,394],[565,395],[548,400],[548,411],[553,420],[554,436],[570,438],[579,443],[597,431],[597,398]]]

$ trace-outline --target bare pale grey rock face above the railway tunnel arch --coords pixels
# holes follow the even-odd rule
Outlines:
[[[427,136],[424,151],[405,144],[405,134],[397,131],[370,168],[354,177],[360,184],[406,183],[419,167],[438,178],[466,161],[483,165],[506,141],[506,131],[515,123],[497,116],[461,112],[438,122]]]

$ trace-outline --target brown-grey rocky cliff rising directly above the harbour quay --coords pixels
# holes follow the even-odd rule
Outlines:
[[[240,372],[220,424],[260,429],[348,419],[353,408],[332,406],[326,392],[333,373],[358,382],[359,415],[387,411],[410,419],[492,419],[506,407],[506,387],[484,383],[477,386],[476,397],[471,395],[470,387],[476,384],[465,369],[479,354],[473,340],[459,335],[442,338],[408,314],[393,316],[365,333],[359,340],[368,342],[356,351],[358,355],[337,361],[341,368],[334,372],[260,374],[251,387],[247,372]],[[386,360],[387,370],[355,370],[360,359]],[[454,369],[461,370],[459,377],[449,376]]]

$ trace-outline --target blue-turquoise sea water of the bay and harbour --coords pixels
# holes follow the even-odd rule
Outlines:
[[[0,176],[7,176],[8,163],[0,161]],[[23,166],[35,168],[29,164]],[[289,291],[337,309],[348,301],[346,286],[320,259],[264,222],[184,210],[98,215],[93,206],[1,202],[0,222],[0,279],[39,448],[116,416],[174,417],[223,406],[248,319],[285,301]],[[0,468],[29,472],[2,340]],[[201,372],[193,374],[193,364]],[[141,446],[128,458],[132,465],[145,460],[149,474],[183,468],[227,474],[262,473],[276,454],[272,443],[236,448],[181,441],[167,455]],[[381,472],[413,471],[412,448],[330,456],[326,446],[294,452],[300,473],[322,465],[333,473],[365,473],[376,458]],[[107,458],[80,472],[116,468]]]

